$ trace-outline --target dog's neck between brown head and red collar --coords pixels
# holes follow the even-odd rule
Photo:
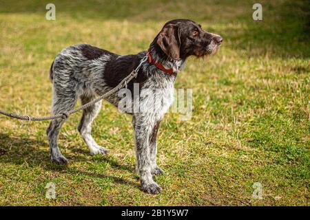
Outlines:
[[[149,47],[149,52],[152,54],[152,58],[156,63],[161,63],[166,69],[172,69],[175,73],[185,67],[185,60],[174,60],[169,58],[162,50],[156,48],[154,45]]]

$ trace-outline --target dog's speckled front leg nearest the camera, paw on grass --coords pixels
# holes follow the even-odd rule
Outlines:
[[[137,170],[140,175],[143,191],[149,193],[161,192],[152,177],[152,161],[149,149],[149,137],[154,127],[154,122],[147,115],[134,115],[132,120],[136,141]]]

